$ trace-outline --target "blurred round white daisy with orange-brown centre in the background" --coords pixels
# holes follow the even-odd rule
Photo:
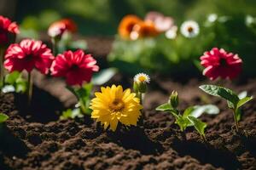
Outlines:
[[[199,34],[200,28],[194,20],[187,20],[183,22],[181,28],[181,33],[184,37],[196,37]]]

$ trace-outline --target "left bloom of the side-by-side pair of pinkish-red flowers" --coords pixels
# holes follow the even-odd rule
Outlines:
[[[4,66],[8,71],[32,71],[37,68],[43,74],[49,72],[49,67],[55,57],[49,48],[41,41],[22,40],[9,46],[5,54]]]

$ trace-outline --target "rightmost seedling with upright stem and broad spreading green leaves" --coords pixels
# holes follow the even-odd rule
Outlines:
[[[203,90],[207,94],[211,94],[212,96],[217,96],[227,100],[228,107],[233,111],[236,132],[239,132],[238,122],[241,120],[241,106],[252,100],[253,96],[247,97],[245,92],[237,95],[229,88],[215,85],[202,85],[199,88],[201,88],[201,90]]]

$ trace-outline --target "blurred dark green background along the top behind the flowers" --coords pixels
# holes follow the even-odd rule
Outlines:
[[[17,0],[15,20],[23,28],[42,31],[52,21],[68,17],[78,23],[83,35],[108,36],[116,33],[125,14],[143,18],[156,10],[180,24],[186,19],[204,20],[211,13],[256,15],[255,7],[255,0]]]

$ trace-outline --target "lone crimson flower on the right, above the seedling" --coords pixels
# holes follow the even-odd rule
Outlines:
[[[201,56],[203,75],[215,80],[217,77],[233,79],[241,72],[241,59],[237,54],[227,53],[223,48],[212,48]]]

